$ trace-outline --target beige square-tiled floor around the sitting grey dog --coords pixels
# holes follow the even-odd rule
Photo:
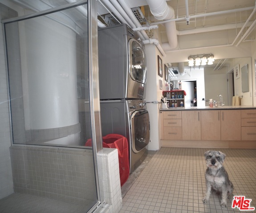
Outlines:
[[[161,148],[123,198],[120,213],[234,213],[233,196],[227,208],[221,195],[211,194],[203,204],[205,191],[204,152],[209,149]],[[219,149],[226,154],[224,166],[235,187],[233,195],[252,199],[256,207],[256,150]],[[242,211],[242,212],[256,212]]]

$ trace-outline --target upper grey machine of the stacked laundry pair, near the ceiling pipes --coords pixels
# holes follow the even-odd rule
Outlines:
[[[98,30],[100,99],[145,99],[146,54],[126,24]]]

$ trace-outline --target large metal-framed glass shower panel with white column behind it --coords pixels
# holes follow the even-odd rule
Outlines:
[[[96,138],[91,1],[33,4],[47,10],[4,21],[11,155],[17,167],[25,168],[12,165],[14,190],[71,202],[77,212],[87,212],[99,200],[96,152],[84,146]],[[21,152],[24,160],[15,162]],[[26,180],[19,179],[20,172]],[[29,184],[20,186],[22,181]]]

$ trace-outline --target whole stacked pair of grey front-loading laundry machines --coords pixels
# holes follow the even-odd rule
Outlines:
[[[146,157],[150,140],[145,48],[120,24],[98,30],[98,55],[102,135],[127,138],[131,173]]]

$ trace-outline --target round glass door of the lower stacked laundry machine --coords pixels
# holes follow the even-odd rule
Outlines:
[[[131,115],[131,143],[134,153],[138,153],[150,139],[150,122],[147,110],[134,111]]]

